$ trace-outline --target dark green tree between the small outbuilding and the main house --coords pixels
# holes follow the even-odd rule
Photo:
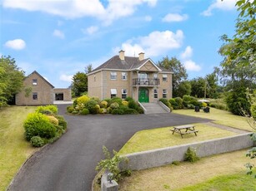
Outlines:
[[[72,91],[74,96],[81,96],[82,93],[88,91],[88,76],[78,71],[72,79]]]

